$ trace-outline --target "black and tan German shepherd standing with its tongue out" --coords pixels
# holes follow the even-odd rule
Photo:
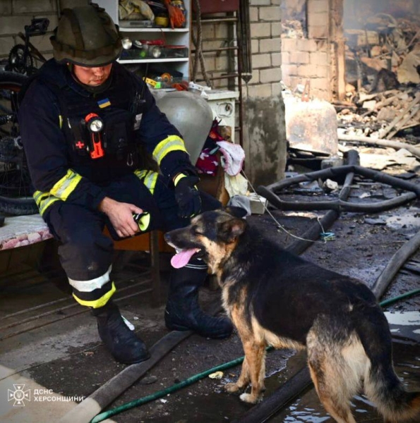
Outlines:
[[[355,422],[349,407],[364,391],[386,422],[420,422],[420,392],[405,391],[392,365],[388,321],[364,283],[282,249],[250,226],[239,207],[205,212],[165,235],[178,254],[208,263],[222,288],[224,309],[244,347],[241,375],[226,391],[264,390],[265,348],[307,351],[318,397],[337,422]]]

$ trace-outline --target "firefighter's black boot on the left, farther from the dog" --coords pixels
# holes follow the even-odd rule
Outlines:
[[[133,364],[148,360],[148,349],[128,328],[112,300],[104,307],[92,309],[92,314],[97,319],[97,331],[102,342],[117,362]]]

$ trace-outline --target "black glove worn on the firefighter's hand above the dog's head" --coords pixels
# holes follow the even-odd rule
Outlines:
[[[178,202],[178,216],[192,217],[200,213],[201,199],[196,183],[197,176],[179,175],[175,178],[175,199]]]

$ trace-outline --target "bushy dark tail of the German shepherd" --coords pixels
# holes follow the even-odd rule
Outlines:
[[[372,310],[373,311],[373,310]],[[420,422],[420,392],[407,392],[392,364],[392,338],[382,312],[359,321],[359,338],[368,356],[364,391],[387,422]]]

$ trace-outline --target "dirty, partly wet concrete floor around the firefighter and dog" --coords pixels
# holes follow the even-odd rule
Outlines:
[[[358,189],[375,191],[377,195],[380,191],[365,185],[359,185]],[[288,233],[277,230],[268,215],[252,216],[250,221],[282,245],[291,242],[290,233],[304,233],[315,219],[311,213],[276,211],[274,214]],[[315,243],[303,256],[332,270],[359,277],[372,286],[397,248],[420,230],[419,215],[419,202],[375,215],[343,213],[330,228],[335,233],[335,240]],[[383,223],[378,223],[378,219]],[[143,341],[151,346],[168,331],[163,321],[164,305],[152,307],[150,292],[139,293],[150,286],[147,260],[144,254],[118,255],[114,279],[119,288],[116,298],[122,313]],[[416,252],[412,260],[419,262],[420,253]],[[61,275],[54,278],[51,274],[48,277],[40,275],[32,264],[19,264],[15,266],[15,275],[0,278],[0,422],[5,423],[57,422],[81,399],[126,368],[114,362],[104,349],[97,336],[95,319],[73,301],[65,279]],[[161,292],[164,300],[168,276],[166,256],[162,264],[165,264]],[[398,274],[383,299],[419,286],[419,274],[405,270]],[[203,307],[218,298],[218,290],[206,288],[201,293]],[[420,297],[398,302],[389,310],[394,315],[412,313],[408,319],[411,322],[408,338],[407,334],[401,335],[400,325],[393,328],[395,336],[400,334],[405,340],[395,348],[397,371],[410,389],[420,389]],[[236,334],[222,341],[192,335],[110,407],[150,395],[242,355]],[[303,364],[304,354],[294,350],[269,353],[265,396],[274,392]],[[124,423],[207,423],[238,419],[250,407],[222,391],[222,385],[238,374],[239,366],[232,367],[224,371],[221,380],[205,378],[113,419]],[[380,422],[376,411],[364,398],[355,399],[354,410],[357,422]],[[320,406],[312,389],[270,421],[332,422],[332,419]]]

